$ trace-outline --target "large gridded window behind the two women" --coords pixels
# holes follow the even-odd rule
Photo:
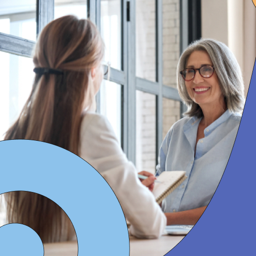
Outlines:
[[[105,41],[104,61],[110,63],[97,112],[108,117],[138,169],[155,173],[162,139],[184,111],[176,67],[189,41],[188,0],[9,2],[0,4],[0,139],[30,93],[36,35],[54,17],[89,17]]]

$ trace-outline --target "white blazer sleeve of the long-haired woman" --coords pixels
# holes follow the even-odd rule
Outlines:
[[[113,189],[130,233],[138,238],[158,238],[164,232],[166,217],[153,194],[141,184],[136,168],[128,161],[109,121],[86,114],[81,124],[80,157],[91,164]]]

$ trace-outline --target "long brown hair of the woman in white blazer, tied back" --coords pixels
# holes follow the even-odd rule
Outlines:
[[[90,20],[69,15],[49,23],[36,42],[34,65],[62,70],[63,74],[35,75],[31,94],[18,119],[6,132],[5,140],[44,141],[77,155],[82,110],[90,108],[94,102],[91,69],[99,67],[103,55],[103,41]],[[54,202],[22,191],[11,192],[10,200],[9,223],[18,221],[27,225],[29,220],[42,240],[59,241],[55,229],[63,230],[70,220],[65,217],[64,221],[59,221],[63,220],[62,211]],[[42,216],[48,223],[45,226]]]

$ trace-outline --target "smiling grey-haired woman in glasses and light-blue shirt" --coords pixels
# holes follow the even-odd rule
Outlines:
[[[163,201],[162,210],[167,225],[193,225],[227,165],[244,106],[244,84],[232,52],[212,39],[195,41],[183,52],[177,82],[188,110],[161,145],[157,175],[186,171],[188,178]]]

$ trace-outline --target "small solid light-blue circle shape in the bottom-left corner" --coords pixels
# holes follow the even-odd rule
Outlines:
[[[22,224],[8,224],[0,227],[1,255],[44,256],[44,246],[38,234]]]

